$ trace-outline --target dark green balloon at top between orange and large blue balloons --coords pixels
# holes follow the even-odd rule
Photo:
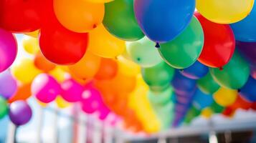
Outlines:
[[[144,36],[134,15],[133,0],[106,3],[103,24],[111,34],[125,41],[136,41]]]

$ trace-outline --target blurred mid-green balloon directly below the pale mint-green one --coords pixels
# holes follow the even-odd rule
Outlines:
[[[174,68],[162,61],[156,66],[142,69],[141,74],[153,92],[161,92],[170,86],[174,77]]]

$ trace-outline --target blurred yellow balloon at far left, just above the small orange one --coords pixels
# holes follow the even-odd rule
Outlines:
[[[11,66],[11,73],[22,84],[29,84],[42,71],[34,66],[32,59],[22,59]]]

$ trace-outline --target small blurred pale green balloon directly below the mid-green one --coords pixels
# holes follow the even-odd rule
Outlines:
[[[171,98],[174,94],[174,90],[171,86],[169,86],[166,90],[160,93],[153,92],[151,90],[148,91],[148,99],[154,106],[163,105],[168,102],[171,102]]]

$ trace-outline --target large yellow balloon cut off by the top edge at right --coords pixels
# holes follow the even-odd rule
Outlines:
[[[232,24],[245,19],[253,4],[254,0],[196,0],[196,9],[209,21]]]

